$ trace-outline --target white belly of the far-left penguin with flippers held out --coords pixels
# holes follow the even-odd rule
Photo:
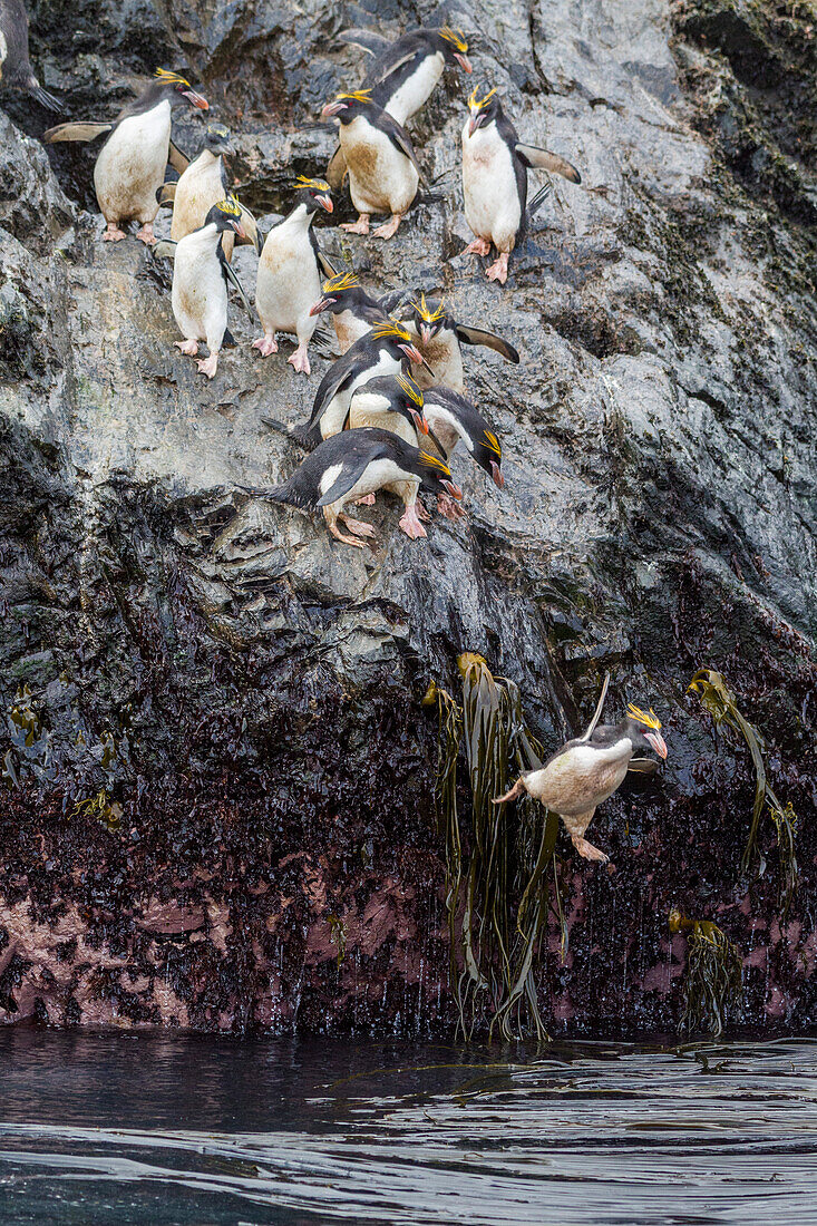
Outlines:
[[[107,222],[126,222],[131,217],[142,223],[153,221],[169,142],[167,98],[144,115],[130,115],[117,125],[93,168],[93,186]]]

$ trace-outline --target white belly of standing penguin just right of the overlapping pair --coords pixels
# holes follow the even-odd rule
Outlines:
[[[309,309],[319,298],[320,273],[309,230],[282,222],[270,230],[258,265],[255,309],[264,330],[309,340],[318,326]]]

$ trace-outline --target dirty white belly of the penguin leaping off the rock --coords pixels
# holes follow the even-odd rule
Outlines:
[[[543,770],[526,775],[525,787],[561,817],[593,814],[621,786],[631,756],[629,741],[619,741],[607,749],[574,745]]]

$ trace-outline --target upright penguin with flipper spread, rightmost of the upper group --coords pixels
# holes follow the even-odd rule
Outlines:
[[[508,280],[508,256],[524,230],[526,217],[534,216],[551,190],[550,183],[546,184],[529,205],[529,168],[539,167],[561,174],[570,183],[581,183],[581,175],[558,153],[520,141],[496,93],[496,89],[489,89],[485,98],[478,99],[474,91],[462,129],[465,219],[476,234],[465,254],[489,255],[493,243],[498,257],[486,270],[486,276],[488,281],[504,284]]]

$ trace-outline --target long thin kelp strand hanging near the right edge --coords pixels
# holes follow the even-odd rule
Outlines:
[[[735,695],[726,685],[723,674],[715,672],[713,668],[702,668],[692,678],[688,689],[698,695],[718,727],[725,723],[743,738],[752,755],[752,764],[754,766],[754,804],[752,807],[752,824],[750,826],[748,840],[741,857],[741,872],[748,873],[756,856],[759,856],[757,847],[758,826],[763,808],[768,805],[778,834],[779,901],[785,916],[797,885],[797,858],[795,855],[797,815],[790,804],[786,804],[784,808],[774,794],[772,785],[765,777],[765,765],[763,763],[765,742],[763,736],[737,710]]]

